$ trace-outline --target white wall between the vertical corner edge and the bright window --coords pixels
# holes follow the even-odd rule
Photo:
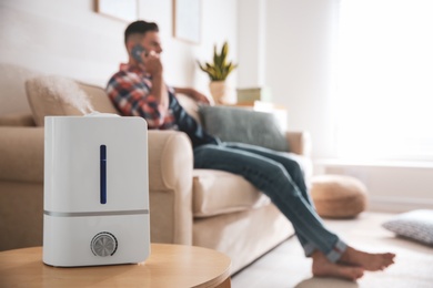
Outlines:
[[[313,157],[335,151],[333,55],[340,0],[266,1],[266,80],[289,127],[312,134]]]

